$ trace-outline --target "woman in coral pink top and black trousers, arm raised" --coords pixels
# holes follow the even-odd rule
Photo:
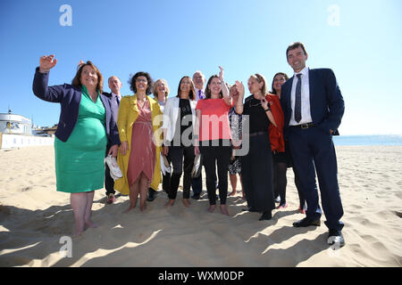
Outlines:
[[[216,205],[215,169],[218,167],[219,199],[221,211],[229,216],[226,207],[228,194],[228,165],[231,155],[231,132],[228,113],[232,99],[228,87],[223,81],[223,69],[219,74],[209,78],[205,88],[205,99],[199,100],[196,107],[195,152],[204,156],[206,189],[210,207],[214,212]],[[242,103],[242,102],[241,102]],[[198,147],[199,146],[199,147]]]

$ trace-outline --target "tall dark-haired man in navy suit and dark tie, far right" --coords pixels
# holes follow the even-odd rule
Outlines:
[[[342,247],[343,208],[339,195],[338,169],[332,135],[338,127],[345,105],[331,69],[309,69],[308,54],[301,43],[289,45],[288,63],[295,75],[281,86],[281,106],[285,116],[284,135],[289,139],[302,191],[306,196],[306,218],[295,227],[319,226],[322,211],[318,202],[318,177],[325,224],[330,230],[328,243]]]

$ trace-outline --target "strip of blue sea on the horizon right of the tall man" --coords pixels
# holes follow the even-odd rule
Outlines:
[[[401,145],[402,134],[335,135],[335,145]]]

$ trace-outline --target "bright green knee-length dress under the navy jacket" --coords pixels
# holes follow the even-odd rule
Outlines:
[[[93,102],[81,87],[79,118],[67,142],[54,139],[57,191],[78,193],[104,187],[105,107],[98,94]]]

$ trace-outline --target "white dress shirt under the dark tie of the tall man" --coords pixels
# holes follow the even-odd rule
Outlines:
[[[308,67],[305,67],[300,72],[295,73],[293,77],[292,90],[290,93],[290,106],[292,107],[292,114],[290,116],[289,126],[297,126],[301,124],[311,123],[313,119],[311,118],[310,112],[310,85],[308,81]],[[301,74],[301,115],[302,118],[300,122],[297,123],[295,120],[295,101],[296,101],[296,85],[297,85],[297,74]]]

